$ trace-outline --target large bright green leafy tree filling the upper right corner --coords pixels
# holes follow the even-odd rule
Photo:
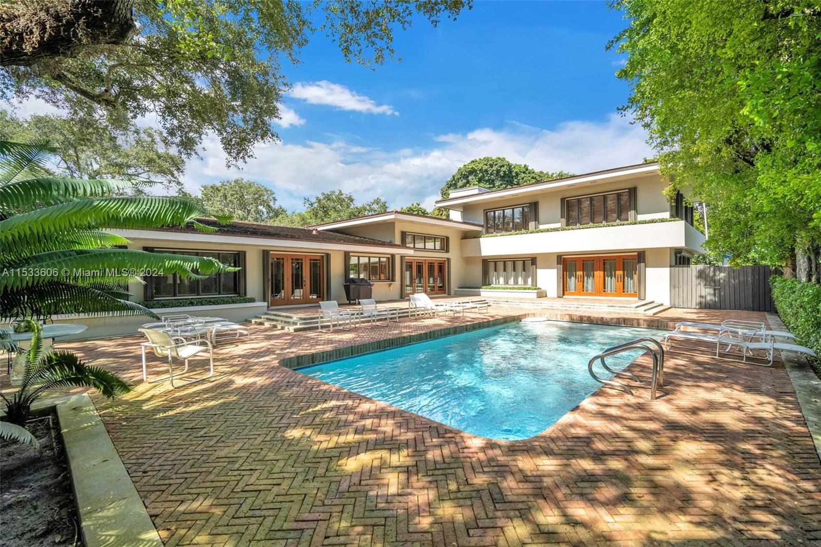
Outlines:
[[[609,46],[627,54],[625,110],[674,186],[707,204],[709,249],[819,279],[817,0],[612,5],[630,21]]]

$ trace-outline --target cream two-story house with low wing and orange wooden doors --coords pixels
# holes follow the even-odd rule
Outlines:
[[[666,187],[656,163],[641,163],[504,190],[452,191],[437,202],[450,218],[390,211],[309,228],[218,226],[204,219],[219,231],[120,233],[130,248],[195,253],[240,266],[201,280],[171,274],[130,286],[133,300],[154,307],[167,302],[175,312],[190,308],[234,320],[272,308],[344,302],[349,278],[368,279],[378,301],[499,287],[504,292],[496,294],[507,297],[669,304],[671,266],[689,264],[704,236],[681,195],[672,204],[667,200]],[[141,319],[86,322],[90,336],[103,336],[134,332]]]

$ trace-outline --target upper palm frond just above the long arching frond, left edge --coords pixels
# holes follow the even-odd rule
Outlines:
[[[133,186],[132,181],[104,178],[27,178],[0,186],[0,209],[30,210],[77,198],[103,197]]]

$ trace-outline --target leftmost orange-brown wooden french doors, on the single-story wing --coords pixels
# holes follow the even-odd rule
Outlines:
[[[319,302],[325,291],[324,257],[271,255],[268,279],[271,306]]]

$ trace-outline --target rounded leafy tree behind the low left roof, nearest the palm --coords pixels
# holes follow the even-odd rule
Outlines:
[[[285,213],[277,207],[277,195],[259,182],[235,178],[202,187],[200,200],[214,214],[234,220],[264,223]]]

